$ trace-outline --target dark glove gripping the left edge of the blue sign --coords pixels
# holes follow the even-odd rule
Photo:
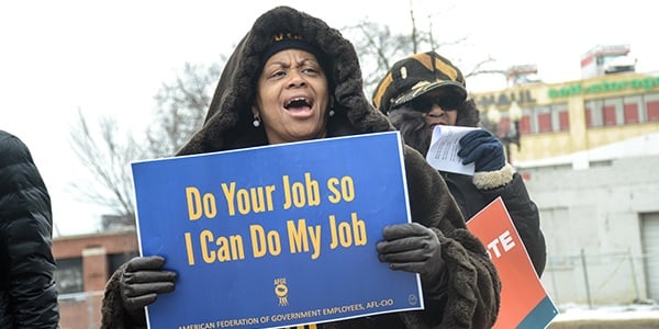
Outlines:
[[[144,307],[154,303],[158,294],[174,292],[176,272],[163,270],[165,259],[159,256],[136,257],[129,261],[119,280],[123,306],[132,317],[144,314]]]

